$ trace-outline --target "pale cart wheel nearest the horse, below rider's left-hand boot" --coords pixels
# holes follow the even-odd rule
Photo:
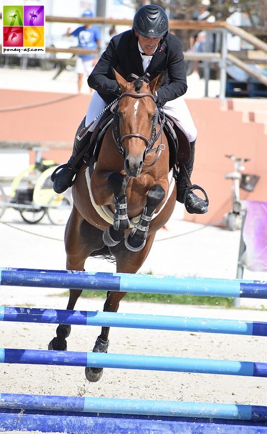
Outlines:
[[[48,203],[47,217],[52,224],[65,225],[72,209],[70,194],[55,194]]]

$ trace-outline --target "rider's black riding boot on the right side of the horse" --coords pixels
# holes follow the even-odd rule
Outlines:
[[[191,177],[195,159],[195,146],[196,141],[190,142],[191,147],[191,157],[185,164],[189,178]],[[200,199],[195,193],[186,191],[189,188],[188,181],[183,170],[180,168],[176,179],[177,186],[177,196],[176,200],[178,202],[184,203],[185,208],[190,214],[205,214],[208,210],[208,200]]]

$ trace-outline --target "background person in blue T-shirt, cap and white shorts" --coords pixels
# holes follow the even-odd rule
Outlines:
[[[83,14],[84,18],[93,17],[93,12],[87,9]],[[70,28],[67,29],[66,36],[76,36],[78,38],[79,48],[88,48],[90,50],[100,49],[100,30],[96,26],[88,24],[86,26],[78,27],[70,32]],[[93,71],[98,58],[94,54],[79,54],[76,61],[75,72],[78,74],[78,92],[82,90],[83,76],[86,78]]]

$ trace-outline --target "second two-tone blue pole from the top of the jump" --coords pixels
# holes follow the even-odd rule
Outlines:
[[[267,336],[267,323],[163,315],[87,312],[59,309],[0,306],[0,321],[104,327],[147,328],[206,333]]]

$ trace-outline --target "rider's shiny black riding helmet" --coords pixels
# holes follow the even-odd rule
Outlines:
[[[166,36],[168,17],[165,10],[156,4],[140,7],[134,15],[133,29],[141,36]]]

